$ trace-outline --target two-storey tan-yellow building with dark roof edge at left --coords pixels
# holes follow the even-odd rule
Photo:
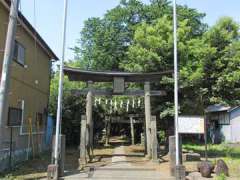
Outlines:
[[[8,1],[0,0],[0,70],[9,10]],[[11,144],[14,161],[24,160],[31,152],[37,154],[45,148],[51,64],[58,59],[20,12],[15,39],[8,115],[0,137],[0,170],[7,165]]]

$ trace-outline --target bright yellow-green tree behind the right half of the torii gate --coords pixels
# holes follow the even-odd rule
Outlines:
[[[199,67],[196,64],[200,61],[193,59],[197,55],[194,54],[198,50],[199,54],[207,53],[204,44],[199,39],[192,40],[192,28],[188,26],[188,20],[179,21],[178,39],[179,39],[179,59],[180,69],[185,72],[185,76],[189,80],[201,78],[201,64]],[[134,72],[158,72],[173,69],[173,33],[172,33],[172,20],[168,16],[159,18],[155,23],[147,24],[142,23],[135,31],[133,44],[128,50],[128,59],[122,61],[121,67],[127,71]],[[195,46],[195,43],[201,44],[201,47]],[[194,49],[195,51],[189,51]],[[189,52],[188,52],[189,51]],[[201,54],[201,56],[204,56]],[[186,60],[188,59],[188,60]],[[195,66],[192,66],[195,63]],[[188,64],[188,66],[185,66]],[[182,69],[183,68],[183,69]],[[191,70],[192,72],[198,68],[198,74],[195,73],[189,77],[186,73]],[[188,81],[187,81],[188,82]],[[159,98],[155,101],[155,113],[161,112],[161,118],[171,116],[173,114],[173,80],[169,77],[164,77],[161,85],[153,85],[153,88],[166,89],[168,96]],[[181,87],[183,88],[183,86]]]

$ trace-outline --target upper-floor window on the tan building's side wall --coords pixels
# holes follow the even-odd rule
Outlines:
[[[17,41],[15,41],[13,59],[21,65],[25,64],[25,48]]]

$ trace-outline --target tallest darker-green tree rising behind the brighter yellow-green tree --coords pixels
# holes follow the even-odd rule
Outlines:
[[[186,6],[179,6],[178,11],[179,19],[188,19],[188,25],[193,27],[192,36],[204,32],[203,13]],[[143,22],[155,23],[166,15],[169,19],[172,17],[172,7],[167,0],[154,0],[150,4],[140,0],[121,0],[103,18],[85,21],[81,38],[73,48],[75,60],[81,61],[80,67],[84,69],[122,70],[120,63],[128,58],[127,51],[138,26]]]

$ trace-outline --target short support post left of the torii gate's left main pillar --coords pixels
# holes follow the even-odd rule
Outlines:
[[[86,159],[86,130],[87,130],[87,122],[86,116],[81,116],[81,135],[80,135],[80,159],[79,159],[79,167],[80,169],[84,168],[87,164]]]

